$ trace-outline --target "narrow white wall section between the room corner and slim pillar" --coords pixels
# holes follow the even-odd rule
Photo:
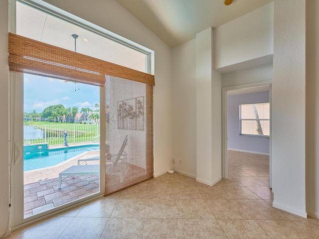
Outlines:
[[[196,177],[196,41],[172,49],[172,165]],[[182,164],[179,164],[179,159]]]

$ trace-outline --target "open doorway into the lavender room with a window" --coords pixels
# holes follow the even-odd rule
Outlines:
[[[251,179],[252,186],[259,184],[272,188],[271,82],[224,87],[222,94],[223,178],[237,177],[237,179],[243,180]],[[257,113],[257,119],[255,118],[256,115],[253,114],[254,112],[251,111],[250,114],[253,119],[246,119],[245,122],[241,122],[240,114],[242,111],[240,111],[240,104],[243,104],[245,107],[248,106],[249,109],[249,104],[267,102],[270,109],[268,112],[269,128],[263,125],[267,117],[261,116],[259,119],[256,107],[255,113]],[[245,124],[244,126],[255,125],[252,127],[256,127],[254,128],[256,132],[245,134],[245,131],[241,129],[243,124]],[[261,125],[265,128],[265,133],[262,132]],[[260,130],[258,130],[259,128]],[[232,167],[232,164],[241,166]],[[246,176],[246,178],[241,178],[243,176]]]

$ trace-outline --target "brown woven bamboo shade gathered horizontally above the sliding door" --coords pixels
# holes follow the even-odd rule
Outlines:
[[[9,33],[9,70],[104,86],[105,75],[155,85],[154,76]]]

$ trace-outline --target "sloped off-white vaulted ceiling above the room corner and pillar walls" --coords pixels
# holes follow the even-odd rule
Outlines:
[[[170,47],[218,27],[273,0],[117,0]]]

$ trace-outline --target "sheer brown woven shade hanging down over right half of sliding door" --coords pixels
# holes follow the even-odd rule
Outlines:
[[[153,86],[106,77],[105,195],[153,177]]]

